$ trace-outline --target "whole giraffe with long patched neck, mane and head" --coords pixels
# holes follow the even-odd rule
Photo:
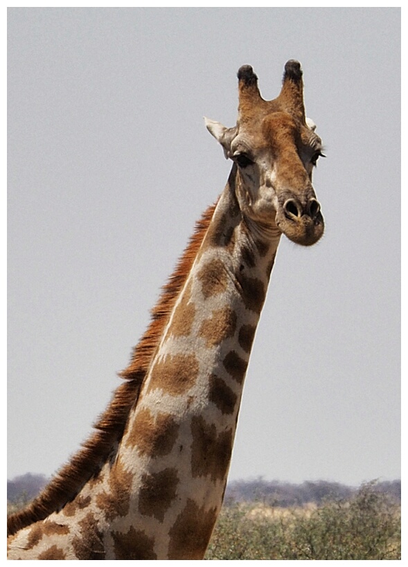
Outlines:
[[[323,234],[322,156],[299,62],[264,100],[238,71],[238,120],[206,127],[232,168],[197,223],[94,433],[8,519],[9,559],[202,559],[220,512],[242,388],[283,233]]]

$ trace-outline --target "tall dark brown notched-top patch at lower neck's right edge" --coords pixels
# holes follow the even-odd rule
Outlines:
[[[210,475],[212,480],[223,479],[231,459],[233,432],[221,431],[202,417],[191,420],[191,474],[193,477]]]

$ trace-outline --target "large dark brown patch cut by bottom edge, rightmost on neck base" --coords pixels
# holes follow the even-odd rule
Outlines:
[[[169,532],[168,559],[203,559],[217,516],[216,508],[206,512],[188,498]]]

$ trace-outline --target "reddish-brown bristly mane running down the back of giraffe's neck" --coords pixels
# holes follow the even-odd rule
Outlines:
[[[152,320],[134,348],[130,365],[120,373],[125,381],[116,388],[112,401],[94,424],[95,431],[71,460],[55,474],[37,498],[24,510],[8,516],[8,535],[15,534],[21,528],[61,510],[66,503],[75,498],[88,480],[99,473],[105,462],[116,451],[125,429],[127,416],[132,406],[137,403],[150,360],[209,228],[214,210],[215,205],[210,206],[197,222],[190,242],[172,276],[163,286],[157,305],[152,309]]]

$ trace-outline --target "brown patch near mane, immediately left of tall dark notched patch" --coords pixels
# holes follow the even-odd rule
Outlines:
[[[128,444],[136,446],[139,453],[162,457],[168,455],[177,439],[179,425],[166,413],[154,416],[147,408],[141,408],[134,417]]]

